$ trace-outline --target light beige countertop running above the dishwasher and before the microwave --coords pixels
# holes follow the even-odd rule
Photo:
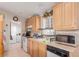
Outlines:
[[[42,38],[38,38],[38,39],[32,38],[32,39],[36,40],[37,42],[43,43]],[[60,48],[60,49],[63,49],[63,50],[69,51],[69,52],[74,52],[78,47],[78,46],[77,47],[72,47],[72,46],[68,46],[68,45],[65,45],[65,44],[59,44],[57,41],[49,42],[49,43],[47,43],[45,45],[50,45],[50,46]]]

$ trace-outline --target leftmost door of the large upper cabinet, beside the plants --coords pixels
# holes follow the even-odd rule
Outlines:
[[[61,7],[62,4],[58,4],[56,6],[54,6],[53,8],[53,28],[55,30],[61,30],[62,29],[62,16],[61,16]]]

